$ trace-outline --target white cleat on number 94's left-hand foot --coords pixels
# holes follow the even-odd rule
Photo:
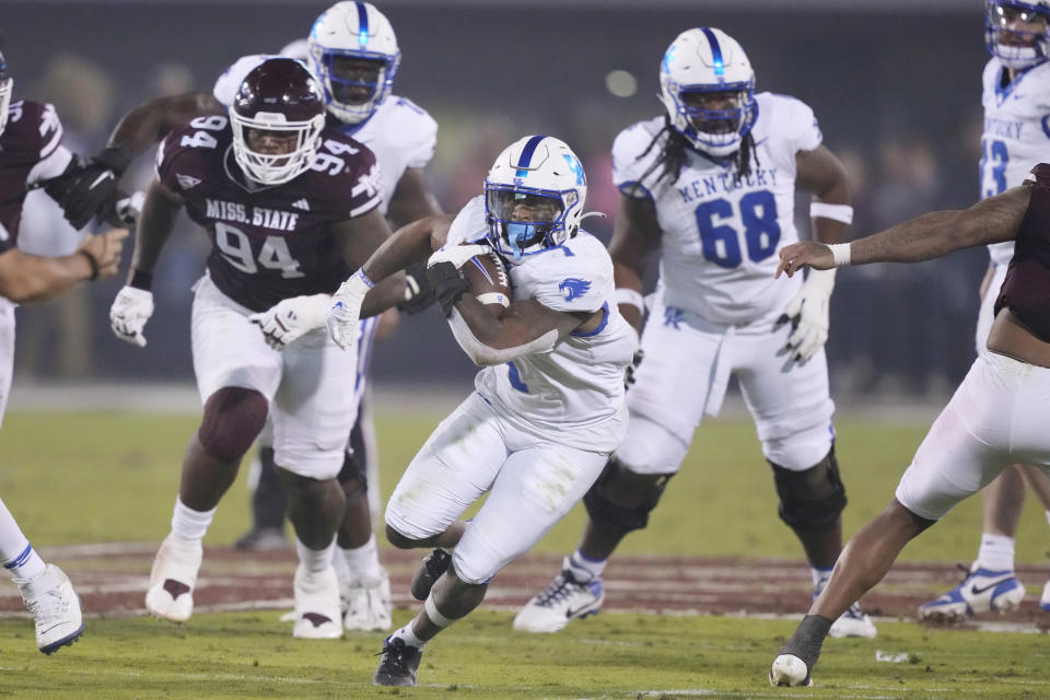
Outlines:
[[[200,540],[187,541],[170,534],[161,542],[150,571],[145,609],[173,622],[185,622],[194,614],[194,587],[203,548]]]

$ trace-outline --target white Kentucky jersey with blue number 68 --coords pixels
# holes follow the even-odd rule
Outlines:
[[[620,191],[645,197],[663,231],[660,288],[665,306],[725,325],[747,324],[775,311],[802,278],[773,279],[777,252],[798,240],[794,224],[795,154],[820,145],[813,110],[785,95],[756,95],[751,174],[689,149],[677,182],[652,172],[666,137],[642,153],[664,126],[638,122],[612,143],[612,176]],[[786,283],[785,283],[786,282]]]

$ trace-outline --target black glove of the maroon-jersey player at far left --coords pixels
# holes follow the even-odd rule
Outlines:
[[[131,163],[131,153],[122,145],[110,144],[90,161],[77,161],[60,186],[47,192],[61,206],[74,229],[83,229],[94,217],[106,217],[117,199],[120,176]]]

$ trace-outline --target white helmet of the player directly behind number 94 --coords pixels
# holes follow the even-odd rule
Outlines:
[[[317,18],[310,31],[310,61],[320,79],[328,110],[340,121],[360,124],[390,93],[401,51],[390,21],[371,2],[337,2]],[[341,78],[340,60],[375,61],[374,80]],[[352,69],[351,69],[352,72]]]

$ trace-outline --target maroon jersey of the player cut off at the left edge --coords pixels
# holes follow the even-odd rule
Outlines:
[[[8,109],[8,126],[0,133],[0,253],[14,247],[22,219],[22,202],[30,174],[42,161],[59,154],[62,124],[51,105],[23,100]],[[62,158],[57,172],[33,173],[33,179],[55,177],[69,164]],[[46,170],[46,168],[45,168]]]

